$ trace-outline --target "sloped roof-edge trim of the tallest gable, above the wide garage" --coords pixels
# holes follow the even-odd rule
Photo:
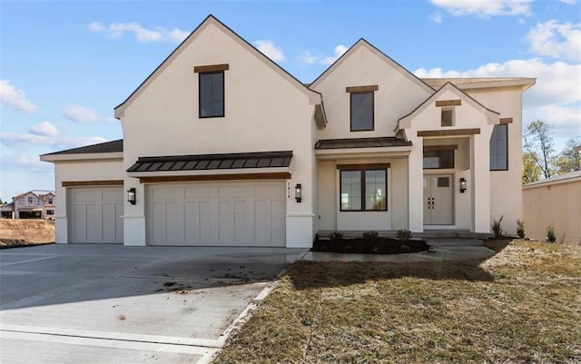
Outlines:
[[[202,24],[201,25],[198,25],[198,27],[195,28],[192,31],[192,33],[190,35],[188,35],[183,40],[183,42],[180,45],[178,45],[177,48],[175,48],[170,55],[168,55],[167,58],[165,58],[165,60],[163,60],[162,64],[160,64],[159,66],[157,66],[157,68],[155,68],[155,70],[153,70],[153,73],[150,74],[143,81],[143,83],[140,84],[135,89],[135,91],[133,91],[133,93],[131,93],[129,95],[129,97],[127,97],[127,99],[125,101],[123,101],[123,103],[120,103],[119,105],[115,106],[115,108],[114,108],[114,110],[115,110],[115,118],[117,118],[117,119],[121,118],[122,115],[123,115],[123,111],[125,110],[125,108],[130,103],[133,102],[133,100],[135,99],[135,97],[137,97],[137,95],[139,95],[139,93],[141,93],[145,87],[147,87],[149,84],[151,84],[153,82],[153,80],[155,79],[155,77],[157,77],[157,75],[160,74],[165,69],[165,67],[167,67],[169,64],[171,64],[172,61],[173,61],[173,59],[175,59],[175,57],[177,57],[180,53],[182,53],[182,50],[185,49],[189,44],[191,44],[192,41],[193,41],[193,39],[195,39],[196,36],[198,36],[198,34],[201,34],[202,31],[205,28],[207,28],[209,25],[215,25],[219,29],[221,29],[222,32],[224,32],[224,34],[229,35],[234,41],[236,41],[239,44],[241,44],[251,54],[254,54],[257,58],[259,58],[264,64],[266,64],[267,66],[271,67],[271,69],[273,69],[275,72],[281,74],[282,77],[285,78],[288,82],[290,82],[291,84],[293,84],[295,87],[297,87],[303,93],[307,94],[307,96],[310,98],[311,101],[313,101],[313,103],[316,103],[316,104],[319,104],[320,103],[320,100],[321,100],[321,94],[320,93],[318,93],[318,92],[316,92],[314,90],[311,90],[309,87],[307,87],[304,84],[302,84],[292,74],[289,74],[280,65],[274,63],[269,57],[267,57],[266,55],[262,54],[261,51],[259,51],[258,49],[256,49],[252,44],[248,43],[240,35],[236,34],[234,31],[232,31],[227,25],[224,25],[216,17],[214,17],[213,15],[208,15],[204,19],[204,21],[202,22]]]

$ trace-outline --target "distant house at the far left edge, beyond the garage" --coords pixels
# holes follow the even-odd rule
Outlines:
[[[29,191],[0,206],[7,219],[54,219],[56,196],[50,191]]]

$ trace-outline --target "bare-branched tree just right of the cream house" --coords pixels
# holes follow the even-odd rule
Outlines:
[[[555,148],[552,133],[552,125],[537,120],[527,126],[525,134],[525,152],[534,158],[545,178],[553,174],[551,164],[555,161]]]

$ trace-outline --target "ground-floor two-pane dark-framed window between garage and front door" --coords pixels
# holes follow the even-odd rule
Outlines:
[[[340,211],[385,212],[388,180],[385,169],[340,171]]]

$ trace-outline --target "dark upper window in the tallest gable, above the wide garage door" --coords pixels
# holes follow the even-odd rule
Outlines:
[[[224,72],[200,74],[200,117],[224,116]]]

